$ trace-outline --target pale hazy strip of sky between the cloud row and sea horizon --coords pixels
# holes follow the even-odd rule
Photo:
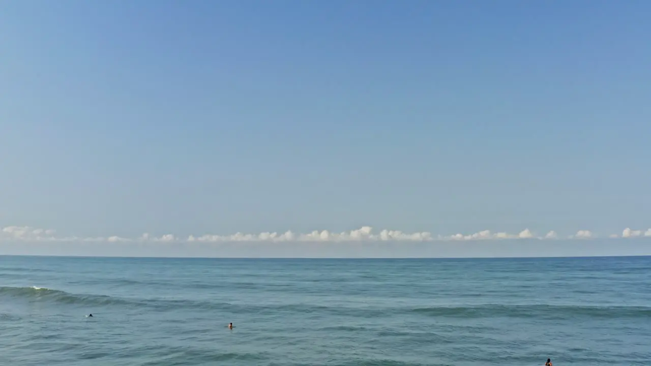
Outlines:
[[[590,257],[651,255],[651,238],[592,240],[497,240],[467,242],[340,243],[96,243],[57,245],[0,244],[1,255],[66,255],[88,257],[222,257],[222,258],[490,258]],[[0,257],[1,260],[1,257]]]

